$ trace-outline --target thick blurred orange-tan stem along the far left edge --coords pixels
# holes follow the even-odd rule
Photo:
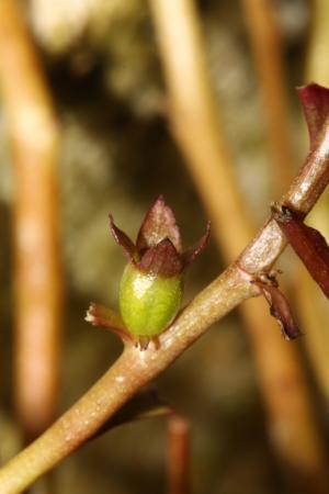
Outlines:
[[[14,165],[15,378],[27,438],[53,419],[61,306],[58,126],[15,0],[0,1],[0,83]]]

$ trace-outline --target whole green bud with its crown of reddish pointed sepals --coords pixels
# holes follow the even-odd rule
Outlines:
[[[200,242],[182,252],[180,231],[162,197],[146,214],[136,245],[110,220],[112,234],[128,259],[120,285],[121,315],[127,332],[147,346],[177,315],[184,269],[205,248],[209,224]]]

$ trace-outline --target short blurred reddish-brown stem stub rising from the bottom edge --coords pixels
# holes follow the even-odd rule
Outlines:
[[[173,415],[168,419],[168,494],[190,492],[190,424]]]

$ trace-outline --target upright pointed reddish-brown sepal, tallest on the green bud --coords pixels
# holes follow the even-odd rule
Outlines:
[[[160,195],[145,215],[138,232],[136,246],[140,251],[156,246],[164,238],[169,238],[178,252],[181,252],[181,234],[175,224],[175,217]]]

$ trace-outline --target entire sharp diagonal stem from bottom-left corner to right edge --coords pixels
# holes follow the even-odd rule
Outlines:
[[[303,181],[300,177],[304,178]],[[309,211],[328,181],[329,119],[324,125],[317,147],[308,156],[305,167],[283,201],[291,203],[297,211]],[[114,412],[143,385],[167,369],[209,325],[242,301],[256,295],[256,288],[250,283],[250,276],[245,269],[249,267],[253,273],[270,270],[284,247],[285,239],[281,229],[274,220],[269,220],[237,261],[204,289],[159,337],[157,347],[151,344],[147,350],[139,351],[134,346],[126,345],[123,355],[84,396],[0,470],[0,494],[22,492],[81,447]],[[300,464],[295,467],[299,469]],[[307,475],[308,471],[304,473]],[[316,482],[314,492],[320,492]]]

